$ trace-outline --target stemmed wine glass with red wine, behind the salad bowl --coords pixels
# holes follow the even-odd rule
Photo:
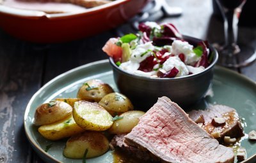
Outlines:
[[[256,60],[254,48],[237,45],[238,20],[246,0],[216,0],[224,20],[225,44],[218,46],[220,64],[226,67],[244,67]]]

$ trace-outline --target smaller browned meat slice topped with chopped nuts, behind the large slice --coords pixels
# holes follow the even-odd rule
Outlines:
[[[209,134],[214,132],[220,133],[218,141],[222,143],[224,136],[230,136],[230,138],[241,138],[244,136],[243,128],[241,126],[238,114],[235,109],[225,105],[210,106],[207,110],[193,110],[189,113],[189,118],[196,121],[200,115],[204,117],[204,124],[202,128]],[[225,125],[216,126],[212,124],[214,117],[225,118]]]

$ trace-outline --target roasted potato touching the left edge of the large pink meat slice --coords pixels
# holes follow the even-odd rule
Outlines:
[[[140,120],[140,117],[145,113],[143,111],[127,111],[122,113],[118,120],[115,120],[113,125],[109,128],[109,132],[111,134],[123,134],[129,133],[132,131],[133,127],[135,127]]]

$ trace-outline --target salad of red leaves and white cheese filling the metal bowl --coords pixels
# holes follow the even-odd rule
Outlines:
[[[191,45],[170,23],[141,23],[137,34],[110,38],[102,50],[120,69],[150,78],[200,73],[213,58],[207,41]]]

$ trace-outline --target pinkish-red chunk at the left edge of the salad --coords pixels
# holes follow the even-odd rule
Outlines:
[[[121,60],[122,58],[122,48],[116,45],[117,41],[117,38],[110,38],[102,48],[102,50],[107,53],[109,57],[113,57],[115,62]]]

